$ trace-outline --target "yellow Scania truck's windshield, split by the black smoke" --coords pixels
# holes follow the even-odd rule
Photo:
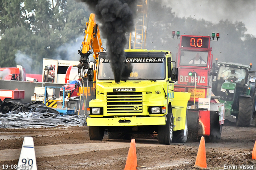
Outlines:
[[[128,61],[128,62],[126,62]],[[138,58],[126,59],[121,80],[162,80],[165,79],[165,58]],[[100,58],[98,65],[99,80],[114,80],[110,63],[105,58]]]

